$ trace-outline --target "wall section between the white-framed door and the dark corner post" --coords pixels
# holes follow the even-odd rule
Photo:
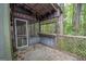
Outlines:
[[[39,42],[39,23],[34,23],[34,24],[28,24],[28,35],[29,35],[29,39],[28,39],[28,44],[35,44]]]

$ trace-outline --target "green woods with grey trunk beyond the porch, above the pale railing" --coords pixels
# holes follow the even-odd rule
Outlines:
[[[85,35],[86,4],[64,5],[64,34]]]

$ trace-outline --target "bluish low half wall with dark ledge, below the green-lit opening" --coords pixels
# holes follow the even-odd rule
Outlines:
[[[45,34],[39,34],[39,38],[40,38],[40,43],[51,47],[51,48],[56,48],[56,36],[53,35],[45,35]]]

